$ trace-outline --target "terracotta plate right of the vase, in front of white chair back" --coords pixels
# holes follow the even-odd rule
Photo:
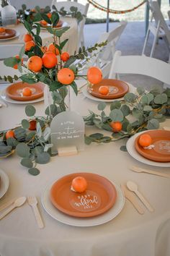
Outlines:
[[[102,95],[99,93],[100,86],[105,85],[109,88],[109,93],[107,95]],[[114,99],[121,98],[128,93],[129,86],[126,82],[114,79],[103,79],[96,85],[92,85],[88,87],[88,91],[91,95],[96,98],[104,98],[104,99]]]

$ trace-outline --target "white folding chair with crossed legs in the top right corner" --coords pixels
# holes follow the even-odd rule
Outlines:
[[[145,54],[146,45],[148,43],[148,37],[149,37],[150,32],[154,36],[150,57],[153,57],[158,38],[164,38],[166,46],[168,47],[169,53],[170,53],[170,30],[169,30],[169,27],[164,20],[164,16],[163,16],[161,9],[158,5],[158,2],[157,1],[148,1],[148,3],[149,3],[149,7],[151,9],[152,17],[151,17],[151,22],[148,26],[148,31],[146,33],[146,39],[145,39],[145,42],[143,45],[142,54]],[[169,54],[169,60],[170,60],[170,54]]]

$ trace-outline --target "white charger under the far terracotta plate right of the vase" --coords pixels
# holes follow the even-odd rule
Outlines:
[[[135,92],[136,92],[135,86],[130,85],[128,82],[126,82],[126,83],[127,83],[128,86],[129,86],[129,93],[135,93]],[[121,97],[121,98],[115,98],[115,99],[109,99],[109,100],[108,100],[108,99],[103,99],[103,98],[94,97],[93,95],[91,95],[91,93],[88,92],[87,86],[88,86],[88,85],[86,85],[86,86],[83,88],[82,93],[84,94],[84,96],[85,96],[86,98],[89,98],[89,99],[92,100],[92,101],[113,102],[113,101],[122,101],[122,100],[123,100],[123,97]]]

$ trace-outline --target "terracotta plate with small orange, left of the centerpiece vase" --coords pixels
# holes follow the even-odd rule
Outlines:
[[[32,95],[22,95],[22,90],[26,87],[32,90]],[[27,82],[16,82],[6,88],[6,95],[8,95],[9,98],[12,98],[14,101],[34,101],[37,98],[41,98],[43,96],[43,91],[44,85],[42,82],[37,82],[36,84],[32,85],[28,84]]]

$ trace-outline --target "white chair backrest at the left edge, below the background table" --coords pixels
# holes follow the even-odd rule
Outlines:
[[[19,54],[23,44],[7,44],[0,46],[0,59],[6,59]]]

